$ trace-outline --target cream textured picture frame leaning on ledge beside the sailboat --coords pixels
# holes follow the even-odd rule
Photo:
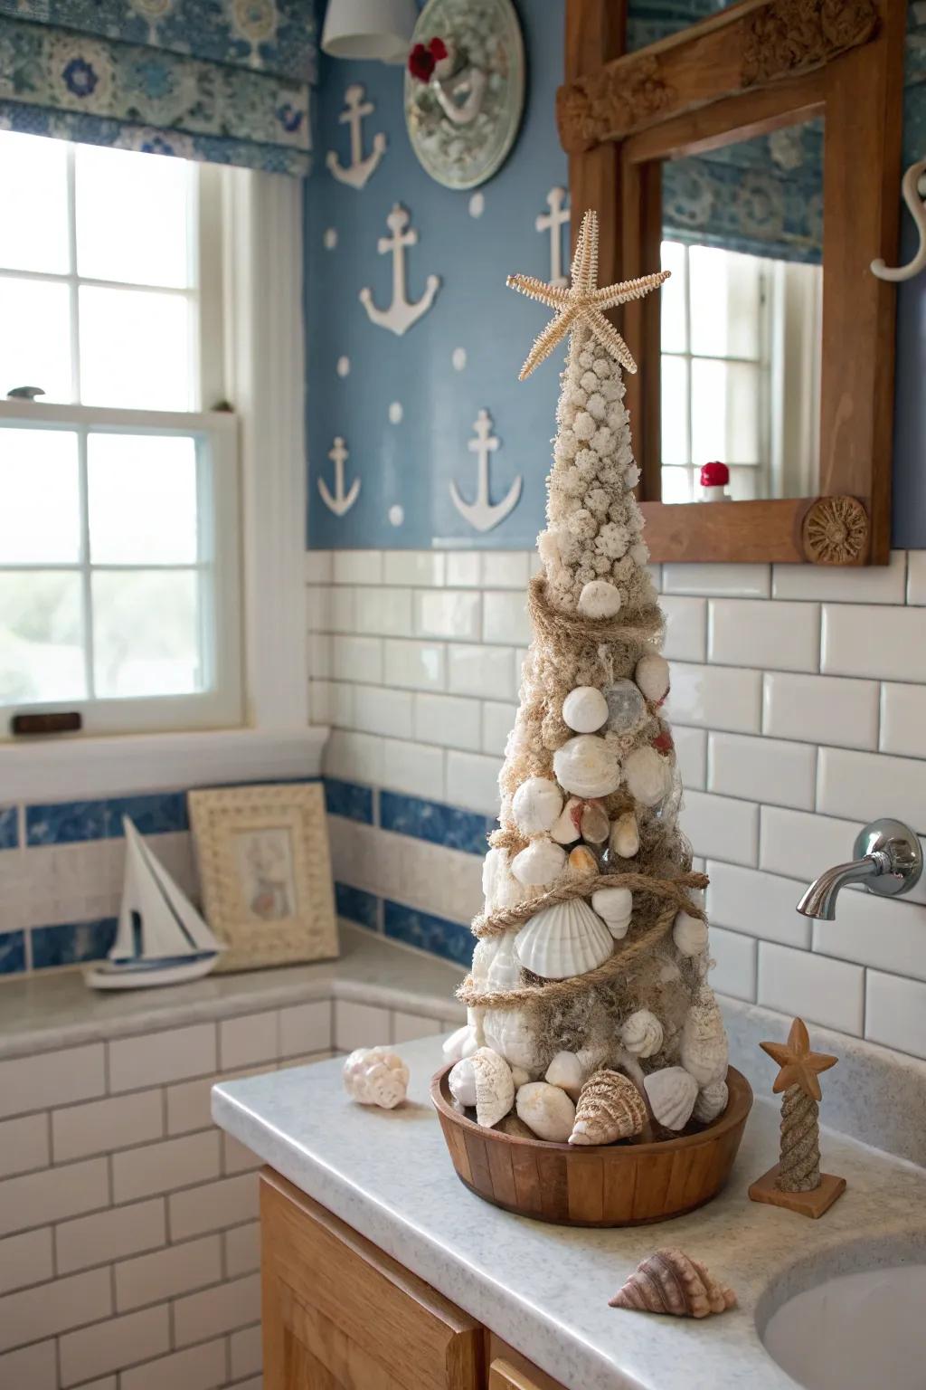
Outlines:
[[[217,970],[337,955],[321,783],[192,791],[203,912],[225,942]]]

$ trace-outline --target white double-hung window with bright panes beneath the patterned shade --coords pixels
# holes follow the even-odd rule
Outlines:
[[[0,737],[240,723],[219,171],[0,132]]]

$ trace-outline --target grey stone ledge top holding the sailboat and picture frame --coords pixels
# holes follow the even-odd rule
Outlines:
[[[418,1008],[453,1019],[465,1011],[454,994],[464,972],[454,965],[339,923],[340,956],[317,965],[208,974],[161,990],[87,990],[81,970],[39,972],[0,984],[0,1061],[78,1042],[129,1037],[205,1019],[232,1017],[307,999],[358,999]]]

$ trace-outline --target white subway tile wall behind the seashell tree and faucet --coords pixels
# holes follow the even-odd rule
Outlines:
[[[360,816],[344,792],[347,813],[330,817],[342,912],[390,931],[390,902],[415,909],[421,929],[400,913],[392,934],[455,959],[469,942],[446,923],[479,906],[483,845],[441,848],[450,809],[429,815],[422,838],[383,806],[496,813],[533,563],[528,552],[307,555],[311,703],[333,726],[326,773],[396,794],[376,819],[375,796]],[[654,577],[683,824],[711,874],[715,987],[926,1058],[926,881],[907,901],[844,892],[836,922],[794,912],[807,883],[851,858],[866,820],[894,815],[926,835],[926,552],[870,570],[665,564]]]

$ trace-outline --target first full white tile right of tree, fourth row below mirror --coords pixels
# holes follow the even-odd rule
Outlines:
[[[708,791],[814,809],[816,749],[776,738],[708,734]]]

